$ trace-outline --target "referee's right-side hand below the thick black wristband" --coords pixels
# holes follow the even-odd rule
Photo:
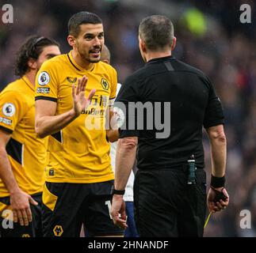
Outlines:
[[[210,212],[215,213],[226,209],[229,196],[224,187],[210,188],[207,196],[207,204]]]

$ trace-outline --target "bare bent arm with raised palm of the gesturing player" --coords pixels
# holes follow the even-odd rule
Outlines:
[[[51,100],[36,100],[36,134],[44,138],[50,134],[55,134],[76,119],[82,111],[90,104],[95,89],[90,91],[88,98],[85,96],[86,76],[78,79],[78,86],[72,86],[73,108],[60,115],[55,115],[57,104]]]

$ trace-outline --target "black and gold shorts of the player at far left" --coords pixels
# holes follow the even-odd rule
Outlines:
[[[32,222],[29,222],[28,226],[21,226],[20,223],[14,223],[12,219],[12,213],[10,210],[10,198],[0,198],[0,234],[2,237],[41,237],[42,235],[42,194],[32,194],[32,198],[38,202],[37,206],[30,204],[32,212]],[[4,219],[2,217],[6,217]]]

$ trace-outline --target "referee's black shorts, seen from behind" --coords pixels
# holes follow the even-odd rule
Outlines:
[[[196,171],[187,184],[185,169],[139,170],[134,183],[135,221],[139,236],[203,236],[206,174]]]

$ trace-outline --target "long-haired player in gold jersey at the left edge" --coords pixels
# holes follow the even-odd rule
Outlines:
[[[13,81],[0,93],[2,237],[42,235],[40,206],[47,139],[36,138],[34,86],[42,63],[59,54],[55,40],[32,36],[17,54],[16,74],[21,79]],[[11,216],[16,222],[13,225],[10,225]]]

